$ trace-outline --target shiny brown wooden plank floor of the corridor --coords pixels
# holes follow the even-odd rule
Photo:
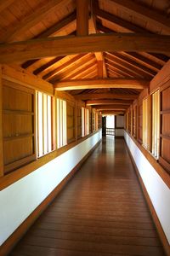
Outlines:
[[[164,255],[122,139],[103,140],[10,255]]]

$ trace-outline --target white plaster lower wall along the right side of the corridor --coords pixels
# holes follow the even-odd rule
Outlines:
[[[140,176],[143,179],[144,186],[150,195],[150,200],[156,210],[162,229],[167,236],[167,241],[170,244],[170,189],[150,165],[150,162],[144,157],[144,154],[142,154],[136,144],[133,143],[133,140],[128,136],[126,131],[124,131],[124,137],[133,156],[133,160],[138,167]]]

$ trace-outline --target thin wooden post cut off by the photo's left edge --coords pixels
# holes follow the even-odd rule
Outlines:
[[[3,176],[3,82],[0,65],[0,177]]]

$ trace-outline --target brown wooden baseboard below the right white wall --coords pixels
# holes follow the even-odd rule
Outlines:
[[[126,143],[126,145],[127,145],[126,140],[125,140],[125,143]],[[160,239],[161,239],[162,246],[163,246],[163,248],[164,248],[165,253],[167,254],[167,256],[170,256],[170,246],[169,246],[169,243],[168,243],[168,241],[167,241],[167,236],[165,235],[165,233],[164,233],[164,231],[163,231],[163,229],[162,229],[162,227],[161,227],[161,223],[160,223],[160,221],[159,221],[159,218],[157,217],[156,210],[155,210],[155,208],[153,207],[152,202],[150,201],[150,195],[148,194],[147,190],[145,189],[144,182],[143,182],[143,180],[142,180],[142,177],[141,177],[140,174],[139,174],[138,167],[136,166],[136,163],[135,163],[135,161],[133,160],[133,156],[132,156],[132,154],[131,154],[131,152],[130,152],[128,146],[127,146],[127,151],[128,151],[128,154],[129,154],[129,156],[130,156],[130,158],[131,158],[131,160],[132,160],[133,167],[134,167],[134,169],[135,169],[135,171],[136,171],[136,173],[137,173],[137,176],[138,176],[138,178],[139,178],[139,184],[140,184],[140,186],[141,186],[141,188],[142,188],[142,190],[143,190],[144,198],[145,198],[145,200],[146,200],[146,202],[147,202],[147,204],[148,204],[148,207],[149,207],[149,209],[150,209],[151,217],[152,217],[152,219],[153,219],[153,221],[154,221],[154,224],[156,225],[156,230],[157,230],[157,233],[158,233],[158,235],[159,235],[159,237],[160,237]]]

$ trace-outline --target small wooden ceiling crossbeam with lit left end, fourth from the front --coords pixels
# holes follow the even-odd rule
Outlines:
[[[127,100],[116,100],[116,99],[103,99],[103,100],[93,100],[93,101],[87,101],[86,106],[93,106],[93,105],[111,105],[111,104],[123,104],[123,105],[130,105],[133,101],[127,101]]]

